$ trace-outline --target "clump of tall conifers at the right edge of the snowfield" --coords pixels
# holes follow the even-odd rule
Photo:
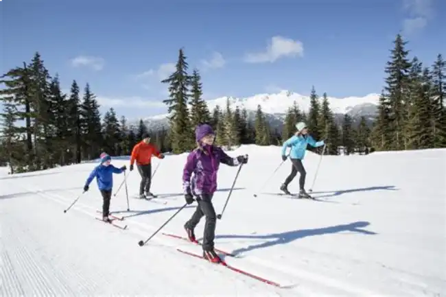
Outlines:
[[[376,150],[446,147],[446,63],[441,54],[431,67],[408,57],[398,35],[386,65],[386,86],[371,136]]]

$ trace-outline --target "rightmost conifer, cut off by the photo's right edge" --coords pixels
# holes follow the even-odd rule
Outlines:
[[[446,147],[446,61],[438,54],[432,66],[432,133],[434,147]]]

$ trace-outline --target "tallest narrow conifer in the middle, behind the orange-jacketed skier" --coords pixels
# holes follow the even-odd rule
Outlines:
[[[180,49],[176,71],[169,78],[161,81],[169,84],[169,99],[165,99],[163,102],[168,106],[167,111],[171,114],[169,117],[170,139],[172,149],[176,154],[191,150],[193,147],[193,128],[191,128],[187,109],[187,103],[189,102],[188,86],[191,78],[187,75],[187,68],[186,56],[183,49]]]

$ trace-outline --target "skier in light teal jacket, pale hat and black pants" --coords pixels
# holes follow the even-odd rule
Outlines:
[[[307,145],[312,145],[313,147],[320,147],[325,145],[325,142],[315,141],[311,135],[308,134],[307,124],[304,122],[296,123],[297,132],[290,139],[285,141],[282,145],[282,160],[285,161],[287,156],[285,155],[285,151],[287,147],[291,147],[290,150],[290,160],[292,163],[291,173],[285,179],[285,182],[281,185],[280,189],[285,194],[290,195],[290,191],[288,191],[288,185],[290,182],[296,177],[297,173],[301,174],[299,178],[299,198],[309,198],[309,195],[305,191],[305,176],[307,176],[307,172],[303,167],[302,160],[305,156],[305,152],[307,150]]]

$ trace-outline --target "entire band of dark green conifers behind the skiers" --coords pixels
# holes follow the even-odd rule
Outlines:
[[[0,78],[0,163],[14,174],[93,160],[101,152],[129,155],[145,132],[151,132],[161,152],[179,154],[196,147],[194,128],[199,123],[211,124],[216,142],[228,150],[250,143],[281,145],[294,134],[298,121],[307,123],[314,139],[325,140],[326,154],[446,147],[446,63],[438,54],[432,64],[423,64],[407,47],[397,35],[388,62],[383,61],[385,80],[371,125],[364,117],[353,123],[349,115],[335,121],[327,93],[318,95],[309,86],[309,111],[290,106],[280,132],[268,124],[261,106],[254,121],[248,121],[246,110],[229,103],[209,110],[202,99],[200,72],[189,70],[184,49],[178,51],[176,71],[162,81],[169,91],[163,100],[169,129],[153,132],[142,119],[130,125],[113,108],[101,115],[94,86],[73,80],[69,93],[62,93],[58,74],[51,74],[36,52]]]

